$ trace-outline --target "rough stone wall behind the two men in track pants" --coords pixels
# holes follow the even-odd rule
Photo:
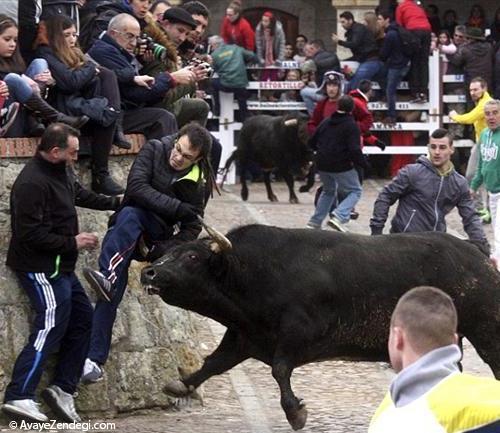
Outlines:
[[[16,356],[29,335],[31,317],[28,298],[5,266],[10,238],[9,194],[12,183],[26,158],[0,158],[0,399]],[[131,156],[115,156],[111,160],[113,175],[125,183]],[[78,164],[82,179],[89,180],[88,163]],[[80,230],[105,233],[110,212],[79,209]],[[97,252],[83,252],[77,273],[83,266],[95,267]],[[168,407],[174,401],[162,393],[163,385],[178,377],[178,368],[194,370],[201,364],[199,343],[192,315],[165,304],[158,296],[142,292],[139,274],[142,264],[133,262],[129,287],[118,311],[112,350],[105,366],[104,380],[80,386],[77,409],[86,416],[112,416],[119,412],[152,407]],[[83,277],[82,284],[87,288]],[[87,291],[92,301],[93,293]],[[51,363],[53,364],[53,361]],[[50,363],[49,363],[50,364]],[[50,369],[48,374],[50,374]],[[48,376],[42,379],[43,389]]]

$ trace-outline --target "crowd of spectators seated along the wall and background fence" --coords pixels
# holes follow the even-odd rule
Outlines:
[[[28,28],[23,22],[21,32],[15,20],[2,15],[0,135],[37,136],[53,120],[83,128],[94,188],[116,194],[123,188],[109,173],[107,155],[113,144],[130,146],[125,133],[158,138],[189,121],[205,125],[210,109],[219,114],[218,91],[224,89],[235,94],[244,120],[249,80],[297,82],[258,97],[304,102],[309,115],[325,97],[318,91],[325,72],[344,74],[346,94],[363,80],[377,81],[381,90],[372,100],[388,105],[377,120],[393,125],[402,116],[396,112],[402,80],[408,80],[410,90],[404,100],[427,102],[428,56],[437,51],[443,74],[465,77],[464,84],[447,85],[447,90],[466,95],[468,106],[450,105],[450,111],[472,106],[468,87],[476,77],[486,81],[493,97],[500,96],[500,8],[488,20],[474,4],[463,22],[452,9],[440,14],[436,5],[423,7],[414,0],[394,0],[387,9],[366,12],[359,22],[344,11],[339,15],[344,34],[332,34],[333,49],[304,34],[292,39],[275,11],[264,11],[256,22],[244,15],[240,0],[228,3],[219,34],[213,35],[217,43],[211,44],[209,12],[196,1],[181,8],[168,0],[75,0],[57,8],[47,2],[40,24]],[[227,61],[212,64],[211,50],[227,53],[225,46],[232,48],[237,67]],[[236,47],[243,51],[234,54]],[[352,56],[346,60],[357,66],[347,62],[342,67],[336,47],[349,49]],[[211,69],[215,78],[207,80]],[[211,107],[205,91],[212,94]],[[463,135],[464,129],[454,125],[453,132]]]

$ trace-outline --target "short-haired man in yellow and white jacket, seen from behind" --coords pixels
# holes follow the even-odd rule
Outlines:
[[[392,314],[389,357],[398,375],[369,433],[500,431],[500,382],[460,372],[457,312],[434,287],[417,287]]]

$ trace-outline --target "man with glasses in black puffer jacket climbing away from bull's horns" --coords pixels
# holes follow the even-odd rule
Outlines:
[[[205,182],[211,176],[206,169],[211,142],[205,128],[189,123],[176,135],[147,142],[137,155],[122,207],[102,243],[99,271],[84,269],[85,278],[103,298],[95,307],[84,382],[102,376],[132,259],[152,261],[169,246],[194,240],[200,233],[198,216],[203,215]],[[144,257],[146,246],[150,253]]]

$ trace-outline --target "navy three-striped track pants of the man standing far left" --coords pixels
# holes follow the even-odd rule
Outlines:
[[[17,357],[5,401],[34,399],[48,356],[58,353],[52,384],[73,394],[90,341],[92,305],[74,272],[17,272],[35,311],[28,343]]]

